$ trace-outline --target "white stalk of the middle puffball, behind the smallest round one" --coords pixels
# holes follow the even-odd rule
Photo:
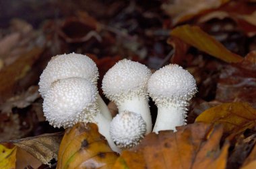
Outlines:
[[[146,122],[146,134],[152,131],[152,119],[147,98],[144,96],[135,96],[133,98],[123,100],[123,102],[119,104],[118,108],[119,113],[129,110],[130,112],[140,114],[142,119]]]

